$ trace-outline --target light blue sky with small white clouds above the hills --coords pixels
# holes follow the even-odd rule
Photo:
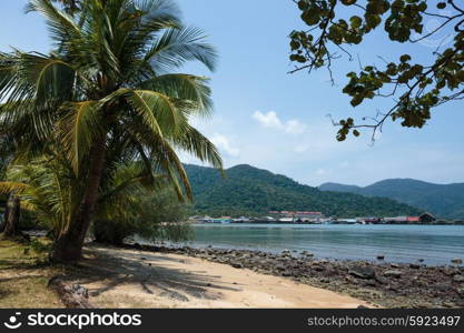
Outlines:
[[[9,47],[49,50],[43,21],[23,13],[26,2],[1,0],[1,51]],[[178,3],[185,21],[204,29],[220,53],[215,73],[198,65],[184,71],[211,78],[215,114],[196,125],[219,147],[226,167],[247,163],[310,185],[327,181],[366,185],[388,178],[464,182],[462,103],[434,110],[433,120],[422,130],[388,123],[374,145],[368,131],[339,143],[327,114],[359,119],[385,110],[391,101],[349,107],[340,90],[346,83],[344,73],[358,70],[357,59],[335,65],[336,87],[325,71],[287,74],[292,69],[287,36],[302,27],[292,0]],[[430,62],[436,47],[435,40],[411,47],[386,43],[378,37],[352,50],[363,64],[379,64],[377,56],[395,60],[405,52],[413,52],[413,60]],[[196,162],[188,157],[184,160]]]

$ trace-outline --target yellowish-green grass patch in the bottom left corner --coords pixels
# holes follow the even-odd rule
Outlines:
[[[51,276],[62,273],[45,264],[48,246],[45,239],[30,243],[0,240],[0,307],[62,307],[47,287]]]

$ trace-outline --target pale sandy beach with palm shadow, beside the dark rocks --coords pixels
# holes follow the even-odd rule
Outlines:
[[[98,307],[343,307],[366,302],[289,279],[168,253],[91,246],[79,283]],[[371,305],[372,306],[372,305]]]

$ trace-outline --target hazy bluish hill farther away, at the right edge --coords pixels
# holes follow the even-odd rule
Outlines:
[[[417,206],[440,218],[464,219],[464,183],[442,185],[413,179],[391,179],[365,188],[325,183],[319,186],[319,190],[389,198]]]

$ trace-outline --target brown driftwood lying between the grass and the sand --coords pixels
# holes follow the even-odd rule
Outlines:
[[[89,291],[82,285],[65,282],[61,278],[51,278],[48,287],[52,289],[68,309],[95,309],[89,302]]]

